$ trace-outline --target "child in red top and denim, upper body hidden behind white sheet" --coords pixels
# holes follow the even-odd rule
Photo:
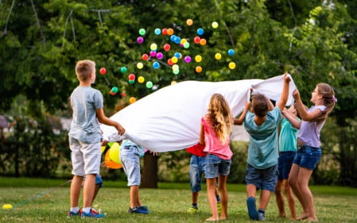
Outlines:
[[[203,152],[205,146],[201,144],[196,144],[187,148],[187,152],[192,154],[191,160],[189,162],[189,184],[192,191],[192,206],[189,207],[187,213],[197,213],[198,211],[198,192],[201,190],[201,177],[205,172],[206,166],[206,155]],[[222,210],[222,205],[220,203],[220,194],[216,187],[216,198],[217,198],[217,209]]]

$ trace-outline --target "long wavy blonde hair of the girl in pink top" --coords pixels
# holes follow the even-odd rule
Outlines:
[[[220,142],[225,144],[233,128],[233,116],[228,102],[222,94],[213,94],[211,96],[206,118],[211,122],[211,126],[214,128],[214,132]]]

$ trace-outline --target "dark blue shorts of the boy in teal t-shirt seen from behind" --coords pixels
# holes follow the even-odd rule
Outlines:
[[[260,170],[248,164],[246,168],[246,184],[253,184],[257,189],[274,192],[275,185],[277,185],[277,165]]]

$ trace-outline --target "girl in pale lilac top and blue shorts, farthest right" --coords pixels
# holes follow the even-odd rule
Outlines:
[[[295,98],[297,112],[302,121],[296,122],[291,116],[286,116],[292,126],[299,129],[297,135],[299,148],[292,163],[288,182],[303,207],[303,214],[297,219],[307,218],[308,221],[317,222],[309,180],[322,155],[320,131],[334,109],[337,99],[334,96],[334,89],[327,83],[317,84],[312,91],[310,101],[314,106],[310,109],[304,107],[298,90],[292,92],[292,96]]]

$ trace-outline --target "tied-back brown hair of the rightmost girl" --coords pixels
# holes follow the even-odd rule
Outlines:
[[[323,97],[323,105],[326,106],[325,111],[322,111],[319,116],[317,116],[314,121],[315,122],[322,122],[326,120],[329,114],[334,109],[337,99],[334,96],[334,88],[332,88],[327,83],[318,83],[317,87],[317,94]]]

